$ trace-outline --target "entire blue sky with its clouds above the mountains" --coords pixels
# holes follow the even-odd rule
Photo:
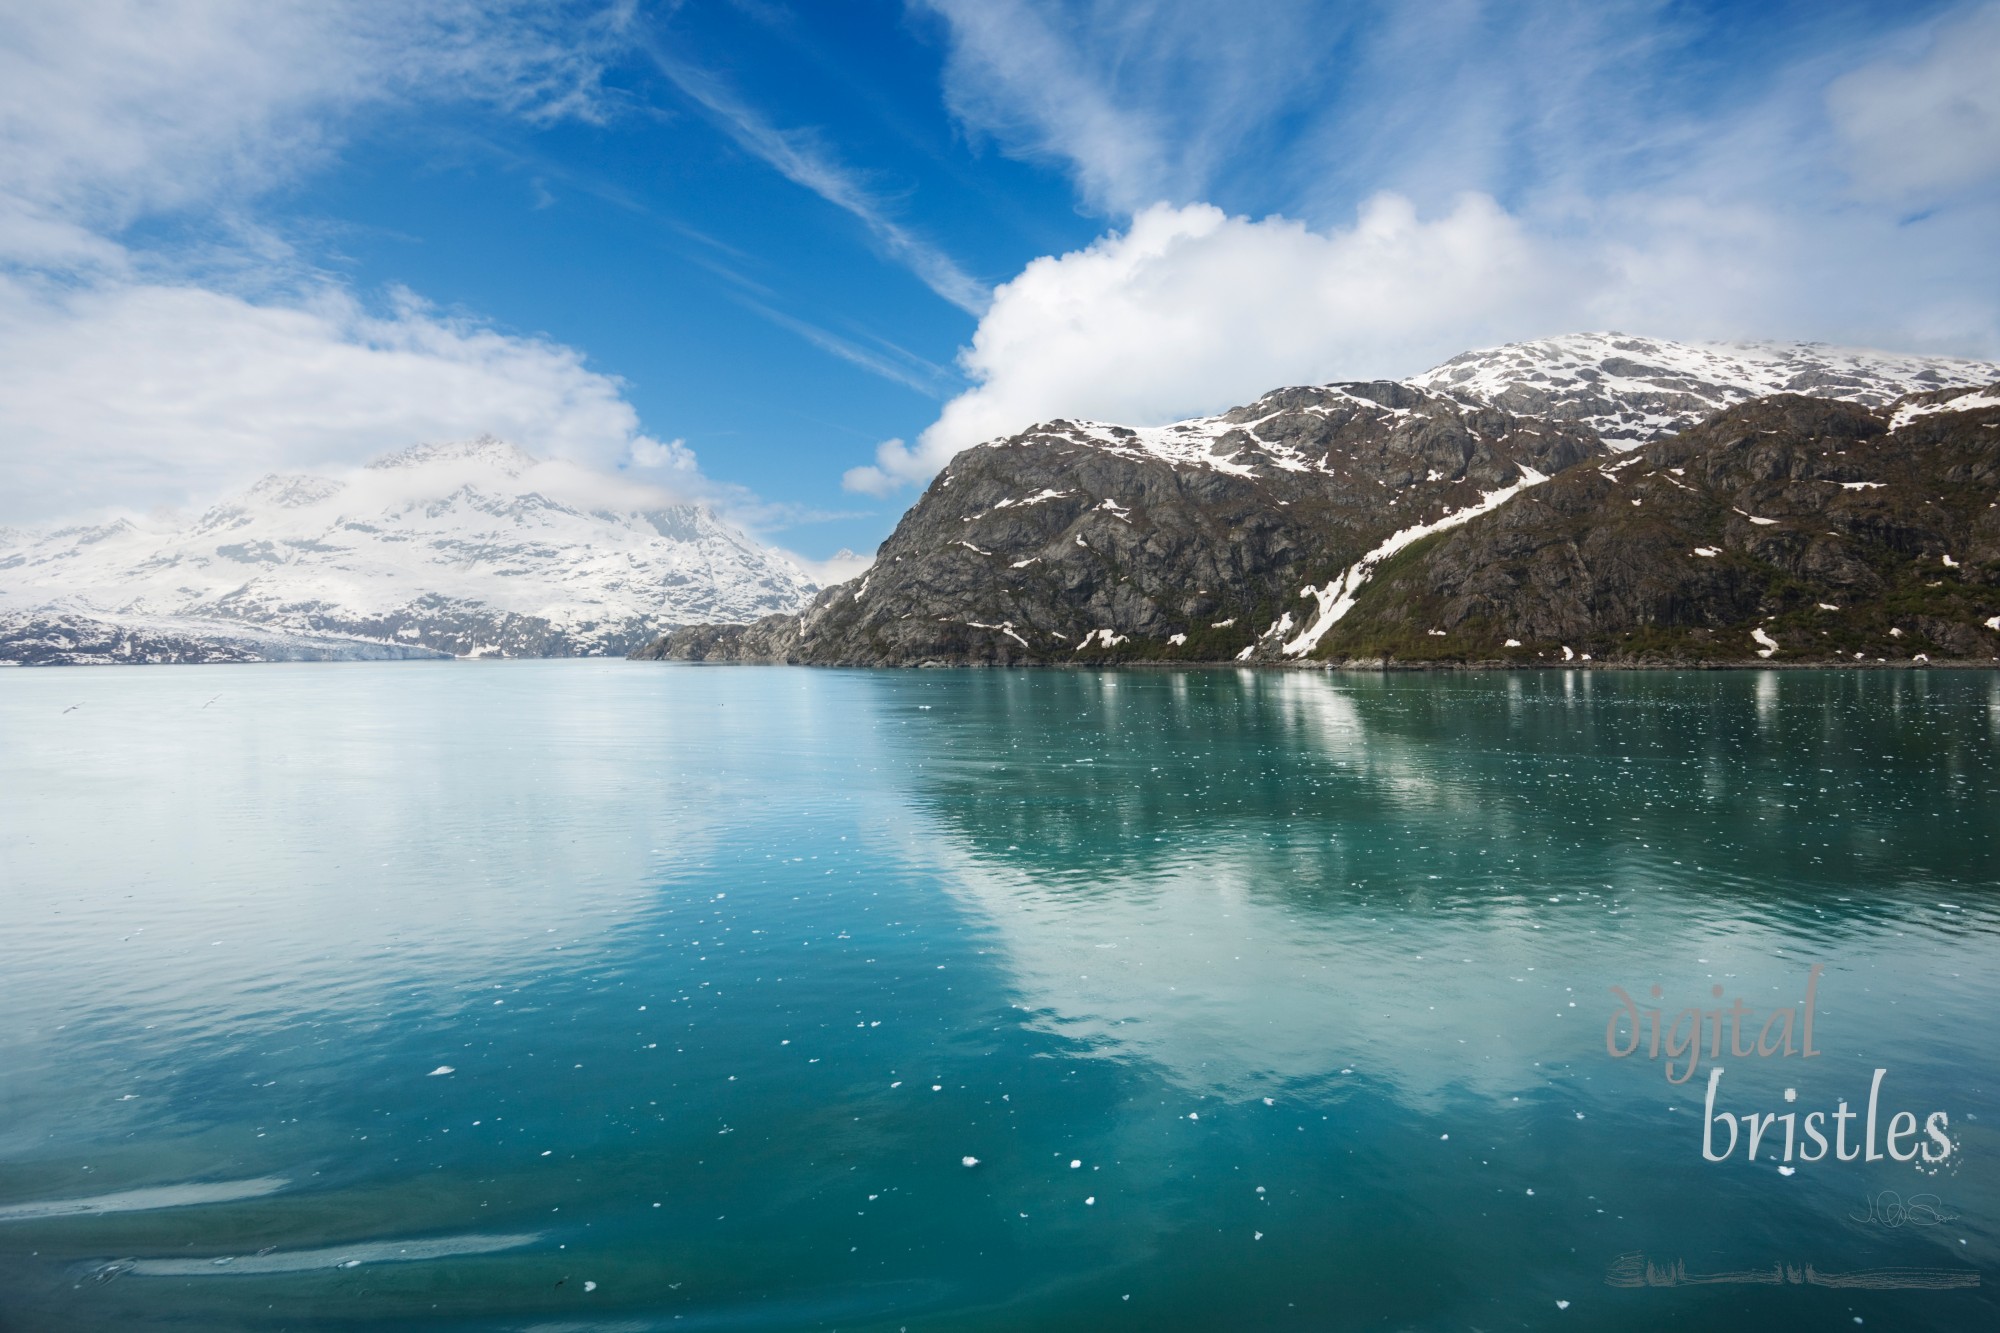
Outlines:
[[[1044,416],[1990,358],[1996,74],[1996,4],[14,6],[0,522],[492,430],[824,558]]]

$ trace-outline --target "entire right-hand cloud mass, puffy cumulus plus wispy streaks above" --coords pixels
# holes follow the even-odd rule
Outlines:
[[[852,490],[922,482],[1052,416],[1164,422],[1578,328],[2000,352],[1994,4],[1886,44],[1830,24],[1826,48],[1712,110],[1662,74],[1688,34],[1654,6],[1306,30],[1286,8],[1226,40],[1182,6],[1144,24],[1090,4],[926,8],[968,128],[1132,216],[1002,284],[960,356],[974,386],[850,468]],[[1328,80],[1346,90],[1328,110],[1298,104]],[[1286,146],[1242,150],[1284,116],[1306,120]],[[1338,198],[1324,180],[1376,192],[1318,222]],[[1232,216],[1210,194],[1278,208]]]

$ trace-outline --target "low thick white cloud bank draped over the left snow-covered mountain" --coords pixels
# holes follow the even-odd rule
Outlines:
[[[482,432],[594,466],[692,468],[574,348],[406,294],[370,312],[338,288],[260,304],[200,286],[0,278],[4,520],[182,504],[274,468]]]

